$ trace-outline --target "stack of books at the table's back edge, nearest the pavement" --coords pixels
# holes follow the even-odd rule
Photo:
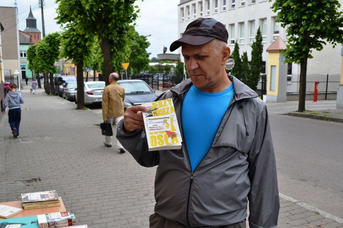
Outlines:
[[[43,208],[43,207],[52,207],[52,206],[61,206],[61,203],[58,200],[57,192],[55,190],[24,193],[22,194],[22,203],[23,203],[24,210],[34,209],[34,208]]]

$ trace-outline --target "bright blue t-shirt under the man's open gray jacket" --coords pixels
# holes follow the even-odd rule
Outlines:
[[[233,94],[233,83],[219,93],[207,93],[194,85],[187,92],[181,118],[192,172],[210,150]]]

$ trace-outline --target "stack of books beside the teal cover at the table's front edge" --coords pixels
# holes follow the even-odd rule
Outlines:
[[[75,224],[75,215],[71,211],[37,215],[37,219],[39,228],[66,227]]]

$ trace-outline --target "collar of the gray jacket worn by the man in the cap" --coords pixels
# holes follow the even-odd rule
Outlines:
[[[232,81],[234,84],[234,90],[235,90],[235,99],[241,100],[246,98],[255,98],[258,97],[257,93],[249,88],[246,84],[239,81],[237,78],[235,78],[232,75],[227,74],[227,77]],[[177,93],[178,95],[181,95],[189,90],[191,86],[193,85],[190,78],[182,81],[181,83],[175,85],[170,90]]]

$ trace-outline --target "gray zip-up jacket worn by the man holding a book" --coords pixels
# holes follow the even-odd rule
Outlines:
[[[247,85],[228,77],[235,94],[194,173],[184,138],[179,150],[148,151],[145,132],[127,133],[121,120],[117,139],[140,165],[158,165],[157,214],[186,227],[224,226],[247,217],[249,200],[250,228],[277,227],[279,191],[267,108]],[[187,121],[181,119],[182,101],[191,85],[187,79],[161,98],[173,99],[181,134]]]

